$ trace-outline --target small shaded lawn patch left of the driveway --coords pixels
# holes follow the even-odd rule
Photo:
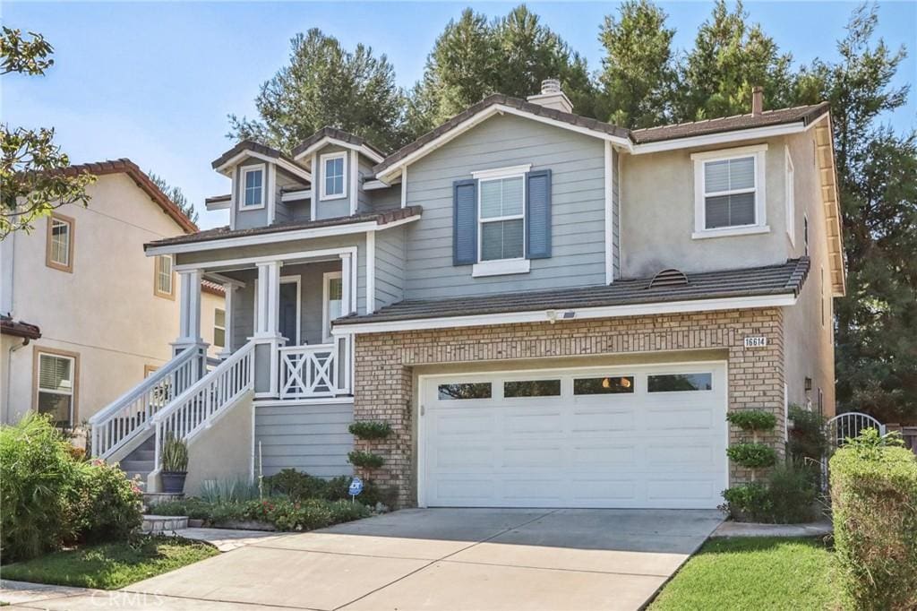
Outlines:
[[[55,551],[0,569],[4,579],[114,590],[163,572],[215,556],[215,548],[185,539],[142,537],[131,543],[105,543]]]

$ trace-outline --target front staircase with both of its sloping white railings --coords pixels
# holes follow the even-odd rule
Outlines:
[[[201,351],[183,351],[90,419],[93,455],[121,461],[128,476],[139,474],[148,492],[157,492],[165,440],[173,435],[190,444],[254,390],[254,347],[249,342],[210,372]]]

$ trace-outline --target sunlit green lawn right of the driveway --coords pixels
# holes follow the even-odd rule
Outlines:
[[[711,539],[649,609],[834,609],[831,554],[818,539]]]

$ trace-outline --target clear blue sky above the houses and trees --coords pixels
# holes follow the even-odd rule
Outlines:
[[[423,72],[426,53],[447,21],[464,6],[489,16],[516,3],[23,3],[4,2],[12,28],[43,33],[56,64],[45,77],[7,76],[2,117],[15,126],[57,128],[73,162],[128,157],[141,168],[181,186],[198,206],[203,228],[226,223],[207,213],[204,197],[228,190],[210,161],[231,146],[228,113],[255,116],[260,83],[288,59],[289,39],[321,28],[349,49],[358,42],[389,56],[398,83],[407,87]],[[675,46],[690,48],[709,2],[662,2],[678,28]],[[602,17],[616,3],[529,3],[598,69]],[[747,2],[796,61],[833,59],[856,3]],[[889,46],[904,44],[911,57],[898,83],[917,76],[917,3],[879,6],[879,33]],[[889,116],[911,128],[917,93]]]

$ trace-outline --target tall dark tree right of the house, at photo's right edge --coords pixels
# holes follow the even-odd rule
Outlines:
[[[877,39],[877,24],[876,6],[857,8],[840,60],[814,61],[797,93],[832,108],[847,268],[836,307],[838,401],[917,423],[917,135],[882,125],[909,88],[892,86],[906,53]]]

